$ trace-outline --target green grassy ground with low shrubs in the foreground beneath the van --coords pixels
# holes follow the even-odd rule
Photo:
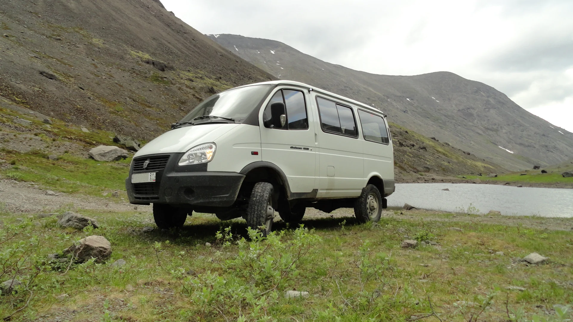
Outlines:
[[[0,279],[15,274],[28,284],[2,296],[1,317],[25,307],[14,321],[565,321],[554,305],[573,303],[571,231],[396,211],[376,225],[278,222],[262,239],[244,221],[211,215],[194,214],[180,231],[142,233],[149,214],[80,212],[101,227],[74,231],[53,217],[1,214]],[[112,244],[105,264],[42,264],[92,234]],[[403,249],[405,238],[438,245]],[[550,261],[517,260],[531,252]],[[120,258],[127,264],[111,265]],[[310,296],[289,300],[286,290]]]

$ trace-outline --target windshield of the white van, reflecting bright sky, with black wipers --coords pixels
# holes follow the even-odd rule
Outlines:
[[[198,124],[212,121],[242,123],[268,95],[269,90],[270,85],[253,85],[215,94],[193,108],[180,123]],[[198,117],[200,118],[197,119]]]

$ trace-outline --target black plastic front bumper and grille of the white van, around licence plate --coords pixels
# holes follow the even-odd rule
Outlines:
[[[125,179],[125,189],[129,202],[135,205],[149,203],[168,203],[170,205],[227,207],[237,199],[245,175],[237,172],[207,171],[207,164],[195,164],[179,167],[183,154],[146,155],[134,159]],[[167,158],[164,168],[154,167],[151,161],[146,171],[137,164],[142,160]],[[138,163],[139,161],[139,163]],[[134,167],[137,167],[134,171]],[[131,183],[134,173],[157,172],[156,182]]]

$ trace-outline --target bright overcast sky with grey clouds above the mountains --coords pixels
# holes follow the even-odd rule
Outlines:
[[[573,132],[573,0],[162,0],[205,34],[267,38],[365,72],[446,70]]]

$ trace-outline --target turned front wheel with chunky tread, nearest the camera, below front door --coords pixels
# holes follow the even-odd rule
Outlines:
[[[270,233],[273,225],[274,209],[272,207],[272,196],[272,184],[257,182],[254,184],[253,192],[249,198],[247,226],[260,230],[264,236]],[[264,229],[262,226],[264,226]]]

